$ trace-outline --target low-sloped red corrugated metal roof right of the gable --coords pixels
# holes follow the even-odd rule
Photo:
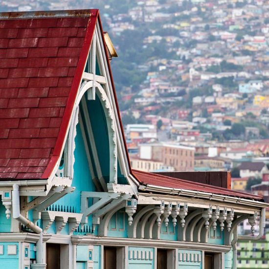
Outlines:
[[[262,200],[263,197],[259,195],[253,195],[240,191],[229,190],[221,187],[210,186],[207,184],[191,182],[183,179],[175,179],[167,176],[157,175],[148,172],[142,172],[138,170],[132,170],[135,178],[144,185],[154,185],[159,187],[184,189],[191,191],[201,191],[219,195],[234,196],[245,199]]]

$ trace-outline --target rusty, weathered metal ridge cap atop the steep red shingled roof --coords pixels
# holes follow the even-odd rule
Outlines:
[[[99,9],[0,12],[0,20],[97,16]]]

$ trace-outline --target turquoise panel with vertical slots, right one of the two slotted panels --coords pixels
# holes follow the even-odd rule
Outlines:
[[[202,269],[202,251],[179,249],[178,269]]]

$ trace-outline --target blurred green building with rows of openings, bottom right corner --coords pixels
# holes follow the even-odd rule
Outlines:
[[[238,240],[237,268],[269,268],[269,231],[259,241]]]

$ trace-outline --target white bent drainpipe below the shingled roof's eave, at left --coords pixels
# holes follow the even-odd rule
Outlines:
[[[19,185],[13,184],[13,191],[12,191],[12,215],[15,220],[22,223],[32,231],[38,233],[39,240],[37,241],[36,248],[36,265],[33,265],[32,268],[40,268],[45,269],[46,265],[43,264],[43,230],[28,220],[27,218],[23,217],[20,212],[20,193],[19,193]],[[32,265],[31,265],[32,266]]]

